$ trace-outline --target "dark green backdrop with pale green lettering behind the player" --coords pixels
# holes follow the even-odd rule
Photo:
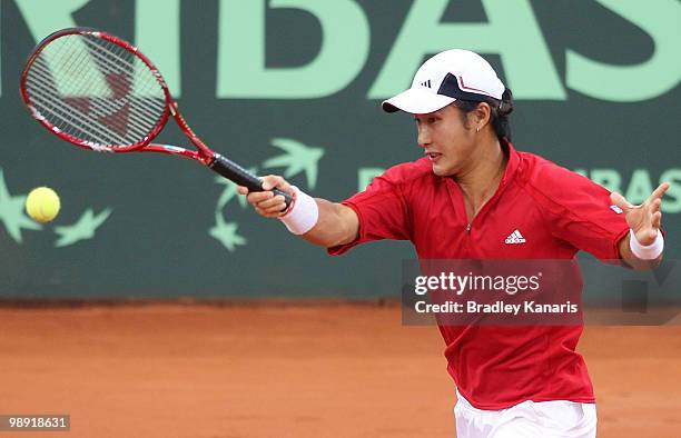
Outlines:
[[[678,0],[1,0],[2,297],[372,297],[399,293],[406,242],[340,258],[245,208],[196,163],[63,143],[23,108],[33,44],[59,28],[135,41],[214,149],[344,199],[422,155],[379,101],[434,52],[484,53],[514,91],[517,149],[641,201],[661,180],[669,258],[681,231]],[[161,9],[162,8],[162,9]],[[161,139],[185,145],[177,130]],[[50,186],[38,227],[23,197]]]

